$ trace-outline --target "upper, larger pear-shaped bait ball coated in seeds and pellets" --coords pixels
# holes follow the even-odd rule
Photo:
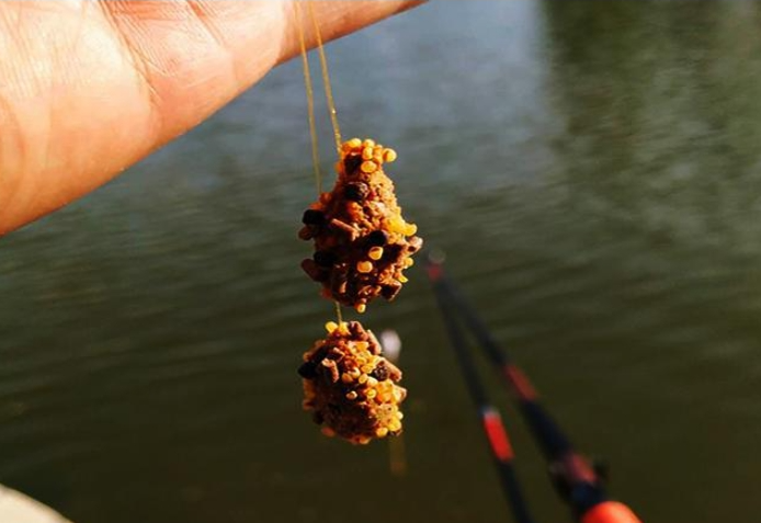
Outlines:
[[[383,170],[396,160],[393,149],[374,140],[352,138],[341,146],[338,180],[329,193],[304,213],[299,238],[315,241],[315,254],[302,269],[322,284],[322,295],[364,310],[383,296],[390,300],[407,282],[402,271],[422,247]]]

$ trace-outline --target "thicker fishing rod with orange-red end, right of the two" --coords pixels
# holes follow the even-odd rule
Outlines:
[[[640,523],[628,507],[613,501],[607,496],[600,471],[576,451],[568,436],[539,402],[536,389],[526,375],[500,348],[475,308],[446,275],[443,255],[429,253],[427,273],[450,333],[453,332],[450,325],[455,322],[455,318],[445,310],[454,309],[515,396],[520,411],[548,463],[556,490],[570,504],[573,516],[580,523]]]

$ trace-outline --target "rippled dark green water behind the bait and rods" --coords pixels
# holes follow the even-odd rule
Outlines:
[[[399,151],[407,216],[648,522],[761,509],[760,26],[753,2],[444,2],[329,47],[344,134]],[[1,241],[0,482],[77,523],[509,521],[417,268],[364,317],[405,343],[408,476],[300,411],[332,316],[298,269],[305,118],[288,64]],[[513,414],[537,520],[568,521]]]

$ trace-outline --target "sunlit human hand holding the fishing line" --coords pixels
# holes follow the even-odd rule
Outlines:
[[[328,42],[417,3],[313,5]],[[0,235],[104,184],[296,56],[295,22],[293,3],[273,0],[0,2]]]

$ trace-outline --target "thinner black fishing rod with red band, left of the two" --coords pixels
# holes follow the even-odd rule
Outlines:
[[[534,523],[518,481],[515,467],[513,466],[514,454],[502,418],[499,411],[489,403],[486,389],[478,377],[476,365],[467,349],[463,332],[454,318],[453,310],[447,304],[446,296],[444,296],[441,289],[434,287],[434,291],[444,325],[450,334],[452,349],[457,357],[470,398],[478,409],[481,428],[489,442],[491,459],[497,468],[502,491],[508,499],[513,518],[516,523]]]

